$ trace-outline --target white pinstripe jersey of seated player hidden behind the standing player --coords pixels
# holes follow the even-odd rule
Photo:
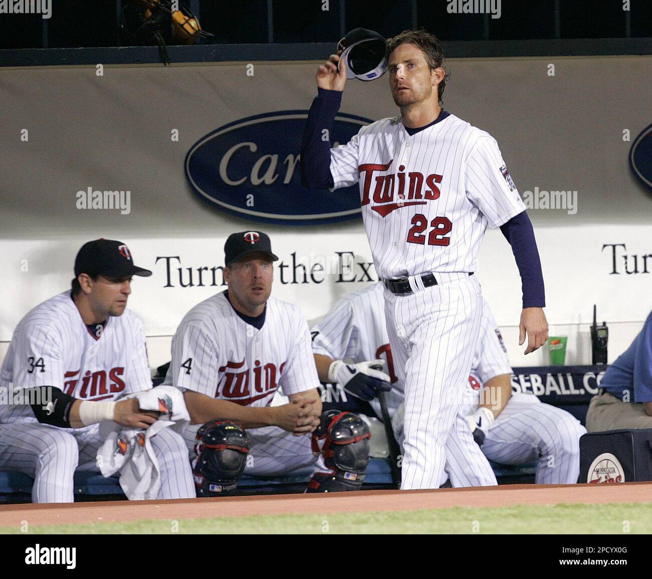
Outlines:
[[[395,409],[403,402],[404,385],[394,371],[385,321],[384,291],[383,283],[377,282],[344,296],[312,328],[312,350],[333,360],[351,359],[353,363],[384,359],[387,374],[392,380],[387,406]],[[483,384],[494,376],[511,373],[503,336],[488,304],[483,301],[480,342],[473,355],[464,404],[477,405]],[[374,400],[371,404],[379,413],[378,401]]]

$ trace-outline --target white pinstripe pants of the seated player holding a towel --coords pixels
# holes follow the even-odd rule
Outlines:
[[[100,472],[96,455],[103,441],[98,430],[99,424],[75,429],[40,423],[0,424],[0,469],[33,477],[35,503],[72,503],[74,472]],[[165,428],[150,441],[160,468],[158,498],[194,497],[192,471],[181,435]]]

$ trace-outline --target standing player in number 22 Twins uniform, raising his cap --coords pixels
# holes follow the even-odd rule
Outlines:
[[[405,387],[401,488],[433,488],[477,348],[482,295],[473,272],[484,231],[500,227],[511,243],[522,278],[526,353],[548,338],[539,252],[496,140],[439,106],[446,78],[436,37],[405,31],[387,41],[400,115],[331,149],[322,136],[333,132],[346,83],[347,63],[339,61],[331,55],[316,74],[302,181],[310,188],[359,182],[364,228],[385,283],[394,368]]]

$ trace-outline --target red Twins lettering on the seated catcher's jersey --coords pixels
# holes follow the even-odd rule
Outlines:
[[[242,362],[227,362],[226,366],[220,366],[219,372],[224,372],[220,378],[217,389],[215,391],[215,398],[226,398],[231,402],[237,404],[251,404],[259,398],[271,396],[276,389],[278,389],[278,378],[283,374],[285,362],[280,365],[278,372],[276,365],[273,363],[261,364],[261,361],[254,362],[254,393],[250,391],[250,369],[245,368],[240,372],[228,372],[227,370],[240,370],[244,367],[244,359]],[[263,384],[263,372],[265,373],[265,381]]]

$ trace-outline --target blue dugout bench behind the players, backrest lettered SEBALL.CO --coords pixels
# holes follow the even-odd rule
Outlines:
[[[512,391],[535,394],[541,402],[557,406],[585,424],[589,400],[597,394],[606,366],[531,366],[513,368]],[[162,379],[155,379],[158,385]],[[501,465],[491,463],[499,484],[533,483],[536,463]],[[278,494],[303,492],[312,469],[298,471],[288,477],[264,479],[243,475],[238,494]],[[0,503],[29,502],[32,479],[21,473],[0,471]],[[117,477],[105,479],[96,473],[75,473],[76,501],[125,499]],[[372,458],[367,468],[363,489],[391,488],[388,459]]]

